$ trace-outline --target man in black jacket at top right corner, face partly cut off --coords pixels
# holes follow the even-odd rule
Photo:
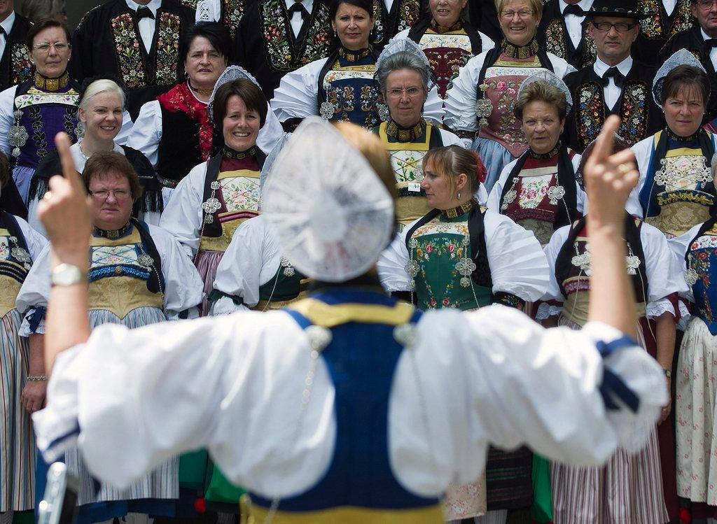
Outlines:
[[[679,49],[687,49],[699,59],[710,79],[710,91],[717,90],[717,3],[716,0],[692,0],[692,15],[697,24],[675,34],[660,51],[659,63]],[[717,96],[711,95],[704,121],[717,117]]]

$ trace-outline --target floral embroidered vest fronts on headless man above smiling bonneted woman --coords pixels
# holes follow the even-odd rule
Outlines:
[[[309,62],[326,56],[331,43],[331,22],[328,19],[328,7],[319,4],[315,16],[310,19],[309,28],[299,57],[294,57],[292,42],[288,34],[288,19],[281,6],[281,0],[268,0],[260,11],[264,41],[267,46],[271,66],[277,71],[293,71]]]

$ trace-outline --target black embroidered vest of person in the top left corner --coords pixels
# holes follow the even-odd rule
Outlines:
[[[32,22],[12,11],[0,22],[0,27],[4,39],[0,50],[0,91],[4,91],[11,85],[22,84],[32,78],[35,68],[25,45],[25,35]]]

